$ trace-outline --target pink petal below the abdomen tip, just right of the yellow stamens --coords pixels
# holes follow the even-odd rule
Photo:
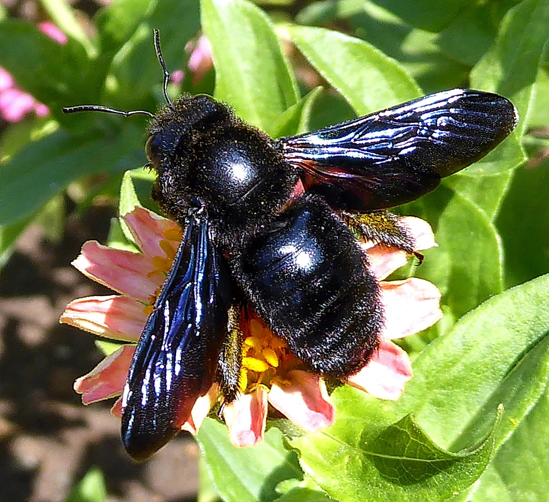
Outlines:
[[[320,375],[292,370],[284,380],[275,377],[268,400],[306,431],[314,432],[334,422],[334,406]]]

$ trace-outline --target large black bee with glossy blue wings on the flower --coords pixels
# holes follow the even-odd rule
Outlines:
[[[237,398],[243,302],[312,370],[345,377],[371,358],[379,285],[356,233],[413,253],[391,208],[482,158],[517,124],[506,98],[454,89],[273,140],[215,99],[167,97],[146,145],[152,197],[184,228],[139,339],[122,399],[122,440],[143,460],[219,383]],[[300,188],[299,190],[296,189]],[[302,187],[302,189],[301,189]]]

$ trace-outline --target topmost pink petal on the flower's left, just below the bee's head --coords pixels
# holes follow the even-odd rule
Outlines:
[[[171,228],[179,228],[173,221],[139,207],[122,216],[122,219],[130,227],[139,249],[147,256],[165,256],[160,247],[160,241],[166,240],[164,232]]]

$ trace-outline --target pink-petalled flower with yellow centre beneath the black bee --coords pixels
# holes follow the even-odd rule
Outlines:
[[[86,276],[120,294],[76,299],[60,318],[60,322],[99,336],[130,342],[122,344],[91,372],[76,380],[74,388],[82,394],[84,404],[121,395],[135,343],[182,236],[174,222],[147,209],[135,208],[123,220],[142,253],[111,249],[89,241],[72,263]],[[426,222],[414,217],[402,217],[400,221],[415,239],[417,250],[435,246]],[[391,339],[417,333],[438,321],[442,316],[440,293],[434,285],[419,278],[384,281],[407,263],[408,256],[402,250],[372,242],[362,246],[380,281],[386,319],[379,349],[346,383],[380,399],[394,400],[400,397],[405,383],[412,377],[412,369],[406,352]],[[268,404],[305,431],[332,425],[334,406],[322,376],[307,371],[290,353],[288,345],[273,334],[251,308],[243,309],[240,330],[244,335],[242,394],[223,408],[231,442],[247,446],[262,439]],[[207,394],[197,399],[182,429],[196,434],[218,397],[219,389],[214,384]],[[112,411],[121,415],[120,398]]]

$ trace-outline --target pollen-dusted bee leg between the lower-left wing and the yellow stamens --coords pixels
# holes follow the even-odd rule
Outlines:
[[[220,414],[223,411],[223,406],[234,401],[241,391],[240,370],[242,368],[242,344],[244,339],[240,328],[240,316],[242,315],[243,308],[240,302],[229,308],[227,336],[223,342],[217,366],[216,380],[223,395]]]

